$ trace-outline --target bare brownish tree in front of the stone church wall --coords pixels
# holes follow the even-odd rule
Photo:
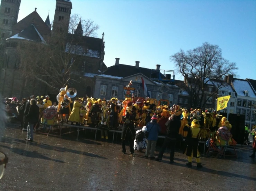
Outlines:
[[[75,43],[55,39],[51,43],[24,41],[17,47],[20,70],[28,79],[37,79],[59,91],[72,82],[80,82],[79,71],[87,49]],[[58,42],[58,43],[56,43]]]

